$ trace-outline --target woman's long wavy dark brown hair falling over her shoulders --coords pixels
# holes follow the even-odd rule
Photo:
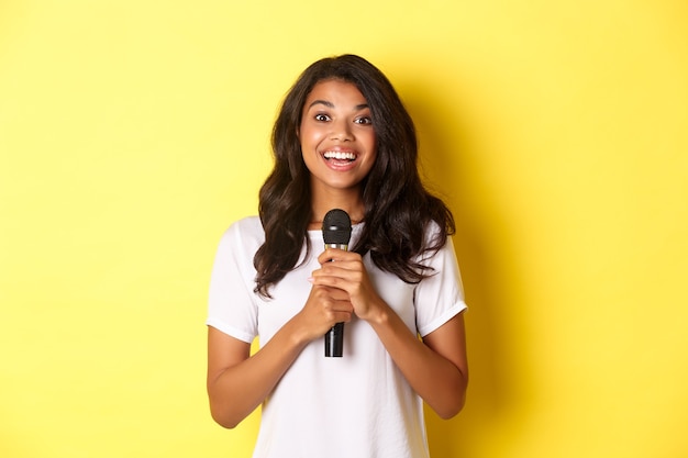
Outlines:
[[[420,262],[423,255],[442,248],[455,231],[450,209],[421,182],[413,121],[387,77],[355,55],[323,58],[297,79],[273,129],[275,167],[260,188],[258,206],[265,243],[254,257],[255,292],[266,298],[270,298],[269,288],[297,267],[303,245],[304,259],[311,250],[311,181],[298,132],[307,97],[318,82],[331,79],[358,88],[370,108],[376,136],[377,157],[360,186],[365,225],[352,249],[370,253],[381,270],[418,283],[432,275]],[[425,230],[431,222],[439,231],[428,241]]]

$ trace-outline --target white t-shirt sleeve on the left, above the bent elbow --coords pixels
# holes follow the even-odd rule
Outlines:
[[[257,335],[257,305],[253,256],[262,241],[259,223],[246,219],[222,235],[210,278],[206,324],[240,340]]]

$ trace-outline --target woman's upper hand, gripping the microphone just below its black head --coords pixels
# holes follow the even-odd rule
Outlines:
[[[375,291],[359,254],[328,248],[319,257],[321,268],[312,273],[312,283],[337,288],[348,293],[354,313],[371,320],[385,302]]]

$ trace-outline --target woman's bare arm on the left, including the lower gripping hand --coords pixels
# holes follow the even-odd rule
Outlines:
[[[345,294],[313,287],[301,312],[253,356],[251,344],[209,327],[207,388],[213,420],[235,427],[267,398],[309,342],[351,316]]]

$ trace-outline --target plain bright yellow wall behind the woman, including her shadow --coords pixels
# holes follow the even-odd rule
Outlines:
[[[212,258],[345,52],[458,221],[471,382],[433,456],[688,456],[683,0],[2,1],[0,456],[249,456],[257,414],[207,407]]]

